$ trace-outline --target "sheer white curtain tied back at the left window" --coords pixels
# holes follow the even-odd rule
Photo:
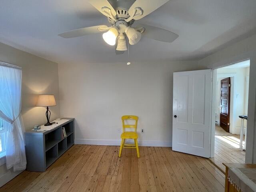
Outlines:
[[[21,112],[21,68],[0,62],[0,118],[6,133],[6,168],[26,169]]]

